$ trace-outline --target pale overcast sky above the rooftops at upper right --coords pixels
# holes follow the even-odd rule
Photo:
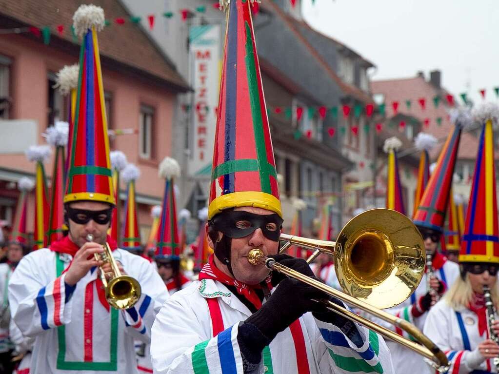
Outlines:
[[[377,66],[373,79],[442,71],[455,96],[478,103],[499,86],[498,0],[301,0],[317,30],[345,43]],[[459,99],[460,100],[460,99]]]

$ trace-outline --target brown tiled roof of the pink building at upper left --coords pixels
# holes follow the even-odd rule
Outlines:
[[[130,14],[125,7],[116,0],[44,0],[42,4],[37,0],[0,0],[0,15],[4,15],[23,25],[42,28],[51,26],[51,45],[64,43],[75,44],[69,26],[75,10],[81,3],[93,3],[104,9],[106,19],[128,18]],[[56,25],[65,25],[62,35],[55,30]],[[24,34],[31,37],[29,34]],[[122,25],[113,24],[105,27],[98,34],[99,49],[105,63],[109,57],[115,62],[132,68],[136,74],[154,76],[154,78],[169,83],[169,88],[178,91],[187,91],[188,84],[170,64],[161,49],[151,40],[140,25],[125,22]],[[54,42],[53,42],[54,41]],[[57,43],[56,41],[59,41]],[[41,42],[41,40],[40,40]],[[78,44],[79,45],[79,44]],[[67,50],[66,50],[67,51]]]

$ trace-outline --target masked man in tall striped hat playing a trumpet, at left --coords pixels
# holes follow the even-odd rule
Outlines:
[[[149,342],[154,316],[168,294],[147,260],[117,248],[106,235],[115,202],[101,69],[93,44],[104,13],[82,5],[74,20],[83,44],[63,200],[69,233],[19,262],[9,283],[9,303],[17,327],[34,340],[30,373],[134,374],[134,339]],[[115,309],[106,299],[100,274],[107,281],[116,274],[107,261],[94,256],[104,251],[106,242],[121,273],[142,288],[136,303],[126,309]]]

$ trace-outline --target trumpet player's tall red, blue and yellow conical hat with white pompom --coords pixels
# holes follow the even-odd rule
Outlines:
[[[104,27],[104,11],[95,5],[80,5],[73,21],[75,33],[83,38],[83,42],[64,202],[91,200],[114,205],[97,42],[97,31]]]

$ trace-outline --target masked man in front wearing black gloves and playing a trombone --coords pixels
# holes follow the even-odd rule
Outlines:
[[[154,372],[392,373],[380,336],[312,301],[329,299],[315,288],[248,262],[258,248],[313,277],[304,260],[277,255],[282,212],[250,1],[228,6],[206,225],[215,254],[156,316]]]

